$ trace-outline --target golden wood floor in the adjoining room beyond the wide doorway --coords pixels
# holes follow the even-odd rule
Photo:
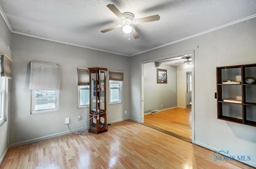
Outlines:
[[[191,105],[145,115],[144,123],[191,140]]]

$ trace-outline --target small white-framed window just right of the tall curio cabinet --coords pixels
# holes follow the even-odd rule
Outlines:
[[[109,102],[113,103],[121,103],[122,102],[122,82],[121,81],[109,81],[110,95]]]

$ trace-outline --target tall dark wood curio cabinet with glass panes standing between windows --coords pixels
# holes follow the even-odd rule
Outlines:
[[[108,131],[106,113],[107,68],[88,68],[90,74],[90,133]]]

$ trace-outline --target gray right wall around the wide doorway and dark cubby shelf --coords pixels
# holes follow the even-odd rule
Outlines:
[[[195,50],[195,143],[234,155],[251,155],[256,166],[256,127],[217,119],[216,67],[256,62],[256,18],[131,58],[131,118],[141,121],[140,62]]]

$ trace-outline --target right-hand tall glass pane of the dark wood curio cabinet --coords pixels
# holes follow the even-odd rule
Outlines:
[[[100,100],[100,113],[105,113],[105,74],[106,71],[99,71],[99,100]]]

